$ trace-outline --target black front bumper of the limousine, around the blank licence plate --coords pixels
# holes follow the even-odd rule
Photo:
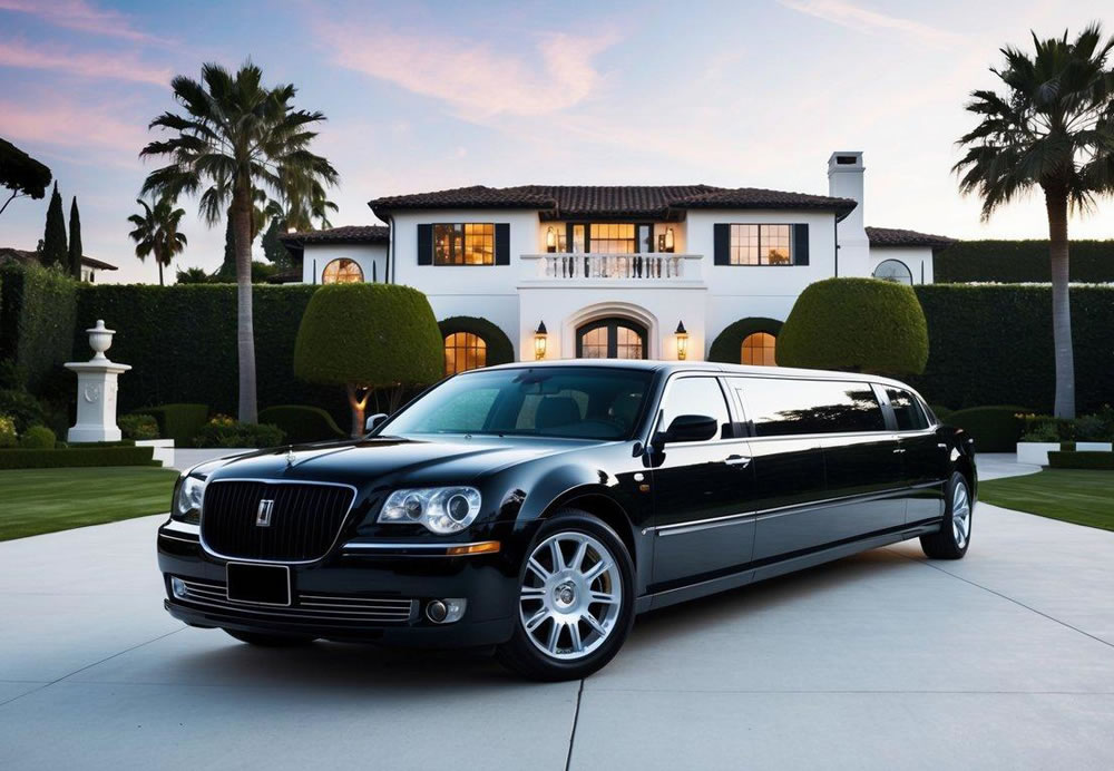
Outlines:
[[[422,647],[496,645],[514,632],[518,565],[506,552],[338,549],[290,565],[290,606],[258,606],[227,599],[225,566],[235,560],[208,554],[195,534],[175,521],[158,530],[164,607],[192,626]],[[185,582],[185,596],[172,591],[172,578]],[[426,607],[444,598],[466,599],[465,614],[436,624]]]

